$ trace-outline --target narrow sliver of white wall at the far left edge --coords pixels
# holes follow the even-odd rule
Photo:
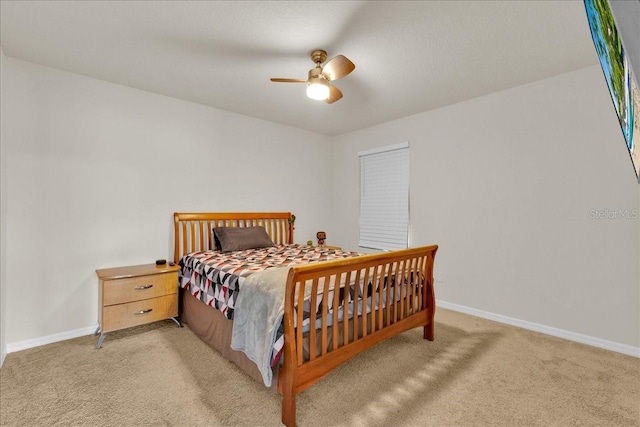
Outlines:
[[[0,93],[4,88],[4,52],[0,48]],[[0,366],[4,362],[4,358],[7,354],[6,344],[6,239],[7,232],[6,224],[6,157],[4,155],[4,129],[5,129],[5,107],[4,97],[0,96]]]

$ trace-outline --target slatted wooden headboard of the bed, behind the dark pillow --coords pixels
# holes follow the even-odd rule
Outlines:
[[[184,254],[190,252],[213,249],[214,227],[261,225],[276,245],[291,244],[295,219],[291,212],[175,212],[173,262],[179,262]]]

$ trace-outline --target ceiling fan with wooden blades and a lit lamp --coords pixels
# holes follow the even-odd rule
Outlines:
[[[322,67],[322,63],[327,60],[327,52],[321,49],[311,52],[311,60],[316,66],[309,70],[309,78],[307,80],[272,78],[271,81],[276,83],[306,83],[307,96],[324,101],[327,104],[332,104],[342,98],[340,89],[332,86],[329,82],[347,76],[356,68],[355,64],[346,56],[338,55],[331,58]]]

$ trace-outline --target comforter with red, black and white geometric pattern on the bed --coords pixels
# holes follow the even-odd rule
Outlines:
[[[193,252],[180,260],[180,287],[188,289],[191,295],[233,320],[242,284],[252,273],[359,255],[363,254],[297,244],[235,252]],[[280,328],[273,346],[272,366],[279,362],[283,345],[283,330]]]

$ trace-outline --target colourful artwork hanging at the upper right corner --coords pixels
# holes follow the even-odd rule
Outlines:
[[[640,91],[607,0],[584,0],[591,37],[640,183]],[[640,72],[640,70],[636,70]]]

